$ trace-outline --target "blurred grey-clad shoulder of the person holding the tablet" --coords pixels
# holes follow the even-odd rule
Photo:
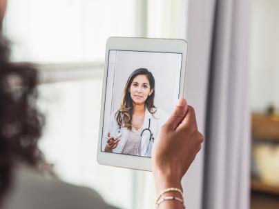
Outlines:
[[[44,202],[45,205],[42,205],[41,202]],[[14,185],[4,205],[6,209],[89,209],[92,206],[113,209],[90,188],[74,186],[57,179],[46,179],[36,170],[27,167],[15,170]]]

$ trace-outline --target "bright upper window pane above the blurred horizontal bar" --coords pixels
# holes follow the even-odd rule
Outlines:
[[[6,33],[15,61],[102,61],[110,36],[134,37],[136,1],[10,0]]]

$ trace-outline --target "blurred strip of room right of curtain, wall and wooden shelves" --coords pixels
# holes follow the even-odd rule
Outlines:
[[[279,1],[253,0],[251,208],[279,208]]]

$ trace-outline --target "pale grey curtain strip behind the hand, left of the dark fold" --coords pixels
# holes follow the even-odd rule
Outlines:
[[[198,128],[204,135],[213,12],[214,4],[212,0],[189,1],[185,97],[189,105],[195,108]],[[198,153],[182,181],[186,208],[202,208],[204,148],[205,146]]]

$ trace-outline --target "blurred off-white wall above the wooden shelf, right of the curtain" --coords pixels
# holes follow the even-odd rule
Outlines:
[[[251,106],[279,108],[279,1],[253,0],[251,28]]]

